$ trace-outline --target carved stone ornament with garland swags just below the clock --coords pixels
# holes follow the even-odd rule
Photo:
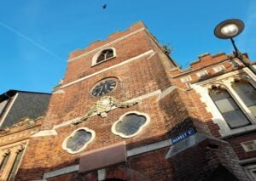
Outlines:
[[[119,102],[117,99],[111,96],[104,96],[99,99],[80,120],[72,122],[72,124],[79,124],[84,122],[93,115],[106,117],[108,116],[108,111],[112,110],[113,108],[128,108],[132,105],[137,105],[138,103],[138,100],[134,100],[132,102]]]

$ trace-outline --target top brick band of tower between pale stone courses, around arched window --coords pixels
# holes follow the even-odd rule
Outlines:
[[[148,38],[146,36],[146,33],[141,31],[131,37],[125,38],[120,42],[110,45],[110,48],[116,49],[116,58],[109,59],[102,64],[91,67],[92,58],[98,51],[88,54],[83,58],[69,62],[67,64],[67,71],[63,83],[72,82],[81,76],[90,75],[96,71],[101,71],[102,69],[123,62],[126,59],[131,59],[139,54],[147,52],[151,49],[151,46],[148,43]]]

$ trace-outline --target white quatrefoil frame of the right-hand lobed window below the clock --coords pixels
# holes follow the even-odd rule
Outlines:
[[[146,117],[146,122],[143,124],[143,126],[141,126],[141,127],[137,130],[136,133],[133,133],[133,134],[131,134],[131,135],[125,135],[125,134],[123,134],[123,133],[117,132],[117,131],[115,130],[116,124],[117,124],[118,122],[122,122],[123,119],[124,119],[124,117],[125,117],[126,115],[130,115],[130,114],[136,114],[137,116],[145,116],[145,117]],[[138,133],[141,133],[141,132],[143,131],[143,128],[146,127],[149,122],[150,122],[150,117],[148,116],[148,114],[142,113],[142,112],[138,112],[138,111],[129,111],[129,112],[126,112],[124,115],[120,116],[120,117],[119,117],[119,120],[113,123],[113,125],[112,125],[112,127],[111,127],[111,131],[112,131],[112,133],[115,134],[115,135],[118,135],[118,136],[120,136],[120,137],[122,137],[122,138],[128,139],[128,138],[131,138],[131,137],[136,136]]]

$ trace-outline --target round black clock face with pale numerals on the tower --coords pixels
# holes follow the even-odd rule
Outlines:
[[[116,87],[117,82],[114,79],[107,79],[99,82],[95,88],[92,89],[91,94],[96,97],[110,93]]]

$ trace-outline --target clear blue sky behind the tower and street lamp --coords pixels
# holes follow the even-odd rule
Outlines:
[[[236,37],[237,46],[256,60],[255,0],[0,2],[0,93],[9,89],[50,93],[64,75],[70,52],[139,20],[162,44],[171,44],[178,65],[188,67],[206,52],[230,54],[230,41],[214,37],[213,29],[220,21],[241,19],[246,26]]]

